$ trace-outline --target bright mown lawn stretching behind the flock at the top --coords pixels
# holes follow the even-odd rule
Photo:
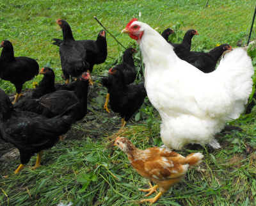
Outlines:
[[[161,32],[166,28],[180,29],[181,37],[188,29],[196,29],[192,50],[211,49],[216,44],[246,44],[252,24],[255,1],[67,1],[67,0],[1,0],[0,36],[13,43],[15,56],[37,59],[40,67],[51,63],[60,68],[58,47],[52,38],[62,38],[57,19],[70,24],[76,40],[96,39],[102,29],[100,22],[125,47],[136,44],[120,31],[132,17],[147,22]],[[141,17],[139,17],[141,13]],[[255,27],[251,39],[255,39]],[[124,51],[107,34],[108,59]],[[132,42],[132,43],[131,43]]]

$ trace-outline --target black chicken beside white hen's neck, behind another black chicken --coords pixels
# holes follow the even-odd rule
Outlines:
[[[130,47],[129,49],[126,49],[123,54],[123,62],[115,66],[115,68],[122,70],[122,72],[124,73],[126,84],[131,84],[136,79],[136,68],[134,65],[134,60],[132,58],[132,54],[136,52],[137,52],[136,49],[132,47]],[[109,101],[109,92],[107,93],[106,102],[104,104],[104,109],[106,109],[106,111],[108,111],[109,113],[108,101]]]

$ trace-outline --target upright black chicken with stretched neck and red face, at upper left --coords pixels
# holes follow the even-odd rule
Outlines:
[[[63,19],[58,19],[57,24],[60,25],[63,33],[63,42],[59,49],[61,69],[64,79],[68,83],[70,75],[78,77],[81,73],[86,72],[90,65],[86,61],[86,51],[83,45],[74,39],[69,24]]]

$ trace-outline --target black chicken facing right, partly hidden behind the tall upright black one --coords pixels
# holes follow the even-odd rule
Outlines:
[[[60,47],[63,40],[58,38],[52,39],[54,42],[52,44]],[[106,31],[101,30],[97,37],[97,40],[78,40],[80,44],[83,45],[86,50],[86,61],[89,63],[89,72],[92,73],[93,66],[104,63],[108,56]]]

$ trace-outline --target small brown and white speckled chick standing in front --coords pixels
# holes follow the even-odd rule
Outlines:
[[[140,189],[140,191],[148,192],[148,196],[154,192],[159,193],[151,199],[141,200],[141,202],[155,203],[163,193],[166,193],[170,187],[182,180],[186,172],[190,168],[202,162],[202,155],[200,152],[189,154],[183,157],[176,152],[166,148],[151,147],[145,150],[139,150],[132,145],[127,138],[116,138],[115,146],[127,154],[132,167],[143,177],[155,182],[157,185],[149,189]]]

